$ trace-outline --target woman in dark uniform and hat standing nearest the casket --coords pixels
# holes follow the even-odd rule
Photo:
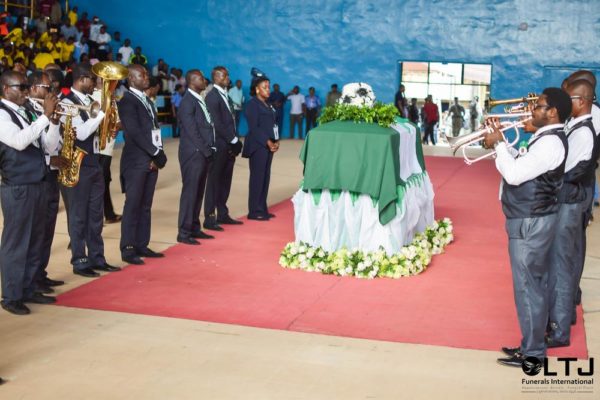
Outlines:
[[[273,153],[279,149],[279,130],[275,123],[275,109],[267,103],[271,93],[269,78],[259,71],[252,72],[252,100],[245,111],[248,135],[242,152],[242,157],[250,161],[248,219],[267,221],[275,217],[267,209],[267,194]]]

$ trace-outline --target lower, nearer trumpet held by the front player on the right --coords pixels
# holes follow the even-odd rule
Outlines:
[[[524,126],[525,122],[529,121],[532,118],[532,116],[531,116],[531,112],[521,112],[521,113],[507,113],[507,114],[489,114],[487,116],[486,120],[489,118],[499,118],[499,119],[518,118],[518,120],[516,120],[516,121],[513,120],[513,121],[500,122],[500,125],[502,125],[502,128],[500,128],[500,132],[502,133],[502,136],[504,137],[504,141],[508,144],[508,146],[514,146],[519,141],[519,128],[522,128]],[[515,139],[512,142],[509,142],[506,139],[506,135],[504,134],[504,132],[509,131],[511,129],[515,130]],[[485,136],[491,132],[492,132],[492,128],[490,126],[485,126],[475,132],[468,133],[466,135],[461,135],[458,137],[446,136],[446,140],[448,140],[448,143],[450,144],[450,149],[452,150],[452,154],[456,154],[458,149],[462,148],[463,158],[465,159],[465,163],[467,165],[471,165],[478,161],[484,160],[488,157],[492,157],[496,154],[496,151],[493,150],[493,151],[488,152],[480,157],[469,158],[466,153],[468,146],[482,142],[485,139]]]

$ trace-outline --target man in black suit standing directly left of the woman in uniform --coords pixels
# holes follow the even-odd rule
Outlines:
[[[206,95],[206,105],[215,126],[217,153],[208,172],[204,201],[204,227],[222,231],[221,224],[239,225],[242,223],[231,218],[227,208],[233,166],[235,158],[242,151],[242,142],[236,135],[233,105],[227,94],[230,82],[229,72],[225,67],[214,67],[212,81],[214,86]]]

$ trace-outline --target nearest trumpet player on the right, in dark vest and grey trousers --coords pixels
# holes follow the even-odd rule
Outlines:
[[[569,95],[558,88],[547,88],[532,111],[537,131],[526,147],[519,151],[509,148],[497,120],[492,123],[493,132],[485,138],[485,146],[496,150],[496,168],[503,178],[502,210],[522,335],[519,347],[502,348],[508,356],[498,359],[502,365],[521,367],[532,361],[528,357],[541,360],[546,356],[548,255],[568,152],[564,123],[570,114]]]

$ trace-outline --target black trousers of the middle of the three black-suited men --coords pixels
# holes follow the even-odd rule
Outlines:
[[[178,234],[182,237],[190,237],[192,233],[201,230],[200,209],[210,163],[200,152],[179,162],[182,187],[179,198]]]

